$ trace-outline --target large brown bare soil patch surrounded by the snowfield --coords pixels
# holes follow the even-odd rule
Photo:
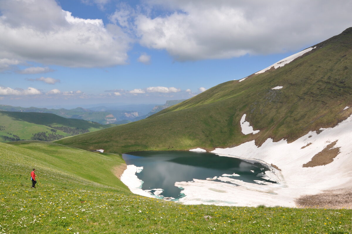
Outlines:
[[[303,167],[322,166],[331,163],[340,153],[340,147],[333,148],[336,143],[337,140],[328,144],[322,151],[315,154],[308,163],[303,164]]]

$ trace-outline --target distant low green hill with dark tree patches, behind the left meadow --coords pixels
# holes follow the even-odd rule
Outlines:
[[[0,142],[43,137],[50,141],[112,126],[50,113],[0,111]]]

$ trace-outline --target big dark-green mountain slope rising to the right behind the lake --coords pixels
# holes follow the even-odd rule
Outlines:
[[[188,150],[239,145],[267,138],[293,141],[331,127],[352,113],[352,29],[316,45],[284,67],[243,82],[228,81],[147,119],[58,140],[109,152]],[[282,89],[272,90],[276,86]],[[240,119],[260,129],[241,133]]]

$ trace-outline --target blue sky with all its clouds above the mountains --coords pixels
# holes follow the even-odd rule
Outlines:
[[[163,104],[352,26],[352,1],[0,0],[0,104]]]

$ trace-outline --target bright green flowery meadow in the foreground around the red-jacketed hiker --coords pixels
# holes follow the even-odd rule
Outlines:
[[[352,210],[346,209],[180,205],[133,195],[111,172],[123,162],[116,154],[39,141],[0,143],[0,152],[0,233],[348,233],[352,229]],[[36,189],[29,188],[32,167],[41,183]],[[205,215],[213,218],[206,221]]]

